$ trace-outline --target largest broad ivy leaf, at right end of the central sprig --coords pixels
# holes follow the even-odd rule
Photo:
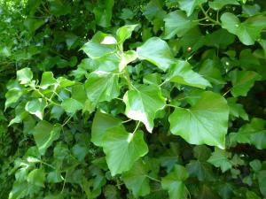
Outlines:
[[[224,149],[228,117],[226,100],[206,91],[191,109],[176,108],[168,120],[171,133],[180,135],[186,142]]]

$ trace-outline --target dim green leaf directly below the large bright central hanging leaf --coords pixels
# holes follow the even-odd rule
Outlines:
[[[126,187],[132,190],[135,197],[145,196],[150,193],[150,180],[147,178],[147,165],[141,160],[137,161],[135,165],[122,174],[122,180]]]

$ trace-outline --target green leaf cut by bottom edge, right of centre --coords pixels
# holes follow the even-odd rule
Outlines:
[[[189,177],[188,172],[182,165],[175,165],[174,170],[161,180],[163,189],[168,190],[169,198],[186,198],[189,194],[184,185],[184,180]]]

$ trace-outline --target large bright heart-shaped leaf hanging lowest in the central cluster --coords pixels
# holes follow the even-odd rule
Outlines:
[[[148,152],[143,133],[129,134],[124,127],[108,128],[103,138],[103,149],[111,174],[127,172],[140,157]]]

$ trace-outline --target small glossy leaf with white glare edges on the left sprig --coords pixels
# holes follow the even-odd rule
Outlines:
[[[25,110],[34,114],[37,118],[43,119],[43,111],[46,106],[47,102],[43,98],[37,98],[27,102]]]

